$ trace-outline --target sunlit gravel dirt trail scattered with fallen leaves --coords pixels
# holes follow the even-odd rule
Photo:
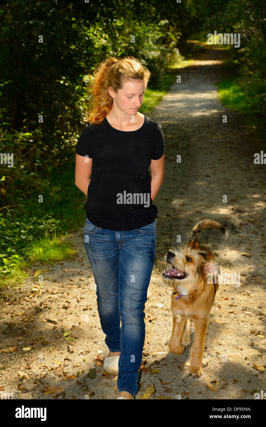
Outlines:
[[[159,395],[254,399],[255,391],[266,390],[265,372],[253,367],[253,363],[266,366],[265,166],[254,165],[253,155],[260,147],[239,116],[218,100],[214,83],[221,77],[223,52],[208,47],[194,58],[191,67],[177,71],[181,83],[173,84],[150,115],[162,125],[165,135],[165,179],[155,200],[157,246],[143,350],[147,372],[139,371],[141,388],[136,398],[154,384],[156,393],[150,399]],[[228,123],[222,122],[224,114]],[[181,163],[176,162],[177,155],[181,155]],[[240,287],[220,285],[209,315],[203,376],[194,379],[185,365],[190,348],[182,355],[168,352],[172,288],[163,283],[161,273],[167,269],[164,257],[168,249],[180,245],[176,235],[186,243],[193,225],[204,218],[227,227],[228,240],[215,230],[204,231],[200,240],[208,242],[222,273],[240,273]],[[16,288],[10,295],[4,295],[7,290],[2,292],[0,347],[17,346],[17,351],[0,353],[1,393],[13,393],[14,399],[117,397],[116,381],[102,376],[103,369],[95,363],[98,355],[106,357],[107,347],[82,237],[83,229],[70,236],[79,253],[75,260],[52,267],[37,265],[23,289]],[[44,280],[40,295],[32,296],[36,270],[41,270]],[[69,337],[75,341],[64,339],[64,331],[71,332]],[[25,347],[31,349],[23,351]],[[96,378],[87,377],[90,369],[97,371]],[[159,372],[152,373],[152,369]],[[19,379],[18,371],[26,377]],[[64,379],[72,374],[76,378]],[[216,385],[217,392],[206,383]],[[46,395],[48,386],[63,392],[59,389]]]

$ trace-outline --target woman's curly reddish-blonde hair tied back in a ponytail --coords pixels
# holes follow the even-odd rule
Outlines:
[[[127,56],[120,61],[114,56],[102,61],[95,70],[92,82],[87,85],[90,93],[89,115],[85,114],[85,122],[99,125],[111,111],[113,98],[108,87],[113,91],[122,88],[123,83],[130,80],[149,81],[150,71],[133,56]]]

